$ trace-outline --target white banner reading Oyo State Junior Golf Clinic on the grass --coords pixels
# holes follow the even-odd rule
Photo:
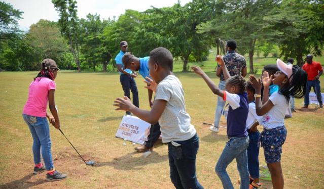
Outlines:
[[[144,144],[150,134],[151,124],[135,116],[124,116],[116,136],[137,144]]]

